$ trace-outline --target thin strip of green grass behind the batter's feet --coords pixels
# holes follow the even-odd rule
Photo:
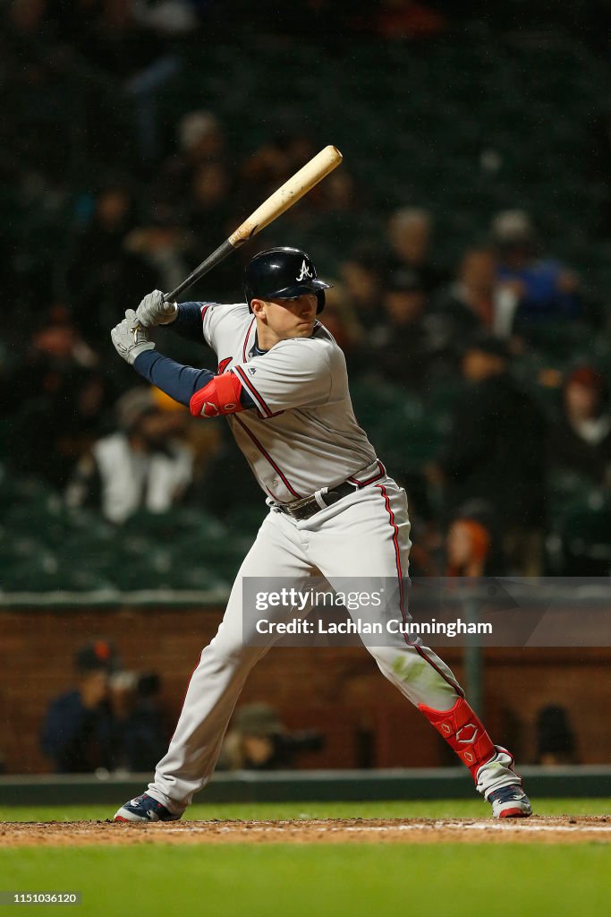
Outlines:
[[[77,822],[112,818],[116,805],[0,807],[0,822]],[[611,799],[533,800],[539,815],[608,815]],[[294,818],[489,818],[490,806],[472,800],[392,802],[219,802],[193,805],[185,819],[294,819]]]

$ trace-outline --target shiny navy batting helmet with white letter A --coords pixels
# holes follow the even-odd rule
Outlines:
[[[297,299],[303,293],[316,293],[319,313],[324,308],[324,291],[333,284],[318,280],[305,251],[268,249],[247,266],[244,286],[248,308],[253,299]]]

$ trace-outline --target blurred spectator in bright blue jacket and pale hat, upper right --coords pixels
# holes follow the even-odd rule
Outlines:
[[[505,306],[504,326],[528,336],[531,326],[583,315],[576,276],[559,261],[540,258],[529,214],[506,210],[496,215],[492,238],[498,255],[498,280],[506,293],[513,295]]]

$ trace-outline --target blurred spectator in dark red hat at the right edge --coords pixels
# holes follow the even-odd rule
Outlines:
[[[603,377],[588,366],[573,370],[564,381],[562,417],[550,429],[548,462],[611,486],[608,394]]]

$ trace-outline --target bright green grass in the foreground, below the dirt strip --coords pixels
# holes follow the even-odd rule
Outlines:
[[[27,848],[0,850],[0,876],[3,889],[80,890],[82,907],[71,912],[83,917],[594,917],[608,907],[611,851],[530,844]]]

